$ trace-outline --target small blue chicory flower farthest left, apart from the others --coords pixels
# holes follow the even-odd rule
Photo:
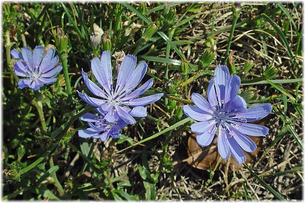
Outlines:
[[[18,81],[19,88],[29,87],[38,90],[43,85],[54,83],[57,78],[52,77],[63,69],[62,65],[56,66],[59,59],[58,56],[54,57],[54,54],[55,50],[50,48],[44,55],[42,46],[36,46],[33,54],[28,47],[22,48],[21,53],[17,49],[13,49],[12,58],[19,59],[14,65],[14,71],[17,76],[26,77]]]

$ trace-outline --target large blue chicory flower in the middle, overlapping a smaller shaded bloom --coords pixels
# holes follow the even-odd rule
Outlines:
[[[146,108],[143,106],[159,100],[163,93],[136,98],[153,85],[153,79],[149,79],[141,87],[132,91],[143,79],[147,64],[142,61],[136,67],[137,57],[129,54],[120,65],[116,87],[113,89],[110,59],[110,52],[104,51],[101,60],[98,57],[91,60],[92,72],[103,89],[89,80],[88,75],[82,71],[82,76],[88,89],[96,96],[102,97],[102,99],[90,97],[77,91],[78,95],[86,103],[108,112],[105,115],[105,119],[109,122],[113,122],[117,115],[126,123],[133,124],[136,122],[133,117],[145,117],[147,115]],[[134,108],[130,109],[129,107]]]

